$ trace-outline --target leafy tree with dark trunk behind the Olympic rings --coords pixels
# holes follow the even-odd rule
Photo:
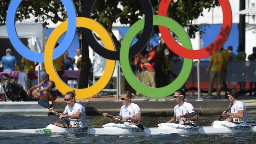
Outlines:
[[[84,0],[74,0],[73,2],[78,16],[81,16]],[[158,13],[159,2],[160,0],[151,0],[154,14]],[[10,0],[0,0],[0,25],[6,24],[6,12],[9,3]],[[118,7],[119,5],[122,5],[123,9]],[[201,30],[201,27],[193,25],[192,22],[195,21],[195,19],[197,19],[199,16],[202,16],[202,11],[204,8],[210,10],[216,6],[219,6],[218,1],[216,0],[173,0],[170,3],[168,17],[173,18],[183,27],[189,27],[187,33],[193,38],[195,36],[195,32],[203,31]],[[67,19],[65,8],[59,0],[23,1],[18,8],[16,20],[23,21],[31,16],[35,17],[35,22],[43,22],[43,26],[48,25],[46,20],[57,23],[58,21],[62,22]],[[121,24],[132,25],[140,19],[139,17],[142,16],[143,11],[138,0],[96,1],[91,14],[92,19],[95,19],[101,23],[107,29],[107,31],[109,31],[117,50],[120,49],[121,45],[111,31],[112,24],[119,19]],[[159,32],[157,26],[154,27],[154,31],[156,33]],[[157,52],[162,53],[163,47],[159,48],[160,49],[158,49]],[[89,52],[88,44],[85,40],[82,40],[82,56],[82,69],[80,74],[81,80],[79,83],[79,88],[85,88],[88,85]],[[161,59],[161,54],[159,59]],[[161,60],[159,63],[161,63]]]

